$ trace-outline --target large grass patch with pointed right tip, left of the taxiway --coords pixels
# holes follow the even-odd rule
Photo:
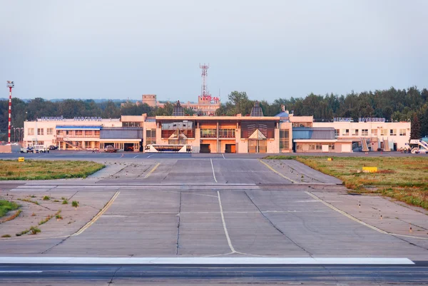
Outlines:
[[[106,165],[68,160],[0,160],[0,180],[54,180],[86,178]]]

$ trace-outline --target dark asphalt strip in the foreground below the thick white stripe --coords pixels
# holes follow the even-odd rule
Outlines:
[[[188,285],[234,285],[235,282],[240,285],[289,285],[290,282],[299,282],[300,285],[427,285],[428,267],[426,262],[413,266],[0,265],[1,285],[25,285],[38,280],[43,280],[48,285],[79,285],[83,281],[99,285],[175,285],[183,282]]]

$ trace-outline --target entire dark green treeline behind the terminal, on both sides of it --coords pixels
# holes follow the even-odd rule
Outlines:
[[[247,93],[233,91],[228,95],[228,101],[223,103],[215,112],[216,115],[243,116],[250,114],[254,105]],[[121,103],[125,103],[121,107]],[[347,93],[346,95],[325,96],[310,93],[305,98],[277,98],[272,103],[260,101],[265,116],[275,116],[280,113],[284,105],[295,116],[314,116],[316,121],[331,121],[334,117],[357,118],[377,117],[387,121],[412,121],[414,136],[428,135],[428,90],[419,91],[416,87],[407,89],[389,88],[381,91],[363,91],[361,93]],[[7,125],[9,101],[0,100],[0,141],[7,140]],[[64,99],[58,101],[34,98],[21,100],[12,98],[12,125],[23,127],[24,121],[32,121],[41,116],[100,116],[102,118],[119,118],[121,115],[169,116],[173,112],[173,103],[165,103],[163,108],[151,108],[147,104],[136,106],[126,101],[100,101],[93,99]],[[185,108],[185,113],[193,115],[195,111]],[[13,131],[12,131],[13,132]]]

